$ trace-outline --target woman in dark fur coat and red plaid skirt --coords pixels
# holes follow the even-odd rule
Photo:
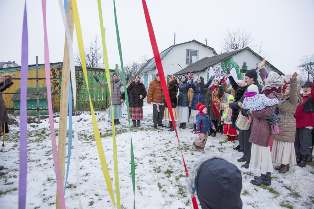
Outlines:
[[[143,99],[147,92],[143,83],[141,83],[139,76],[135,76],[133,82],[127,87],[127,96],[130,106],[130,117],[132,119],[134,128],[140,127],[141,120],[143,120]],[[121,94],[121,102],[125,99],[124,92]],[[137,120],[137,124],[136,123]]]

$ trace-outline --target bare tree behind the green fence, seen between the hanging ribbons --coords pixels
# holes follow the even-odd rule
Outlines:
[[[97,35],[95,36],[95,41],[91,41],[89,46],[85,48],[85,60],[87,67],[102,67],[99,63],[103,58],[103,53],[101,52],[101,47],[98,46]],[[79,52],[75,54],[74,57],[75,64],[82,66],[81,57]]]

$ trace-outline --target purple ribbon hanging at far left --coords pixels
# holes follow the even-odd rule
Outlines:
[[[21,95],[20,95],[20,147],[19,147],[19,209],[26,204],[27,184],[27,77],[28,77],[28,29],[26,0],[24,5],[22,60],[21,60]]]

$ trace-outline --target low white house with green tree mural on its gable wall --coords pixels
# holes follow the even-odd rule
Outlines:
[[[245,47],[243,49],[226,52],[220,55],[205,57],[187,66],[183,70],[176,71],[174,75],[180,76],[192,72],[194,78],[202,76],[205,78],[206,82],[209,80],[211,67],[216,77],[226,76],[227,67],[230,67],[231,69],[234,67],[236,69],[238,79],[242,79],[248,70],[258,67],[262,60],[263,58],[260,55],[251,50],[249,47]],[[267,60],[264,68],[268,72],[275,71],[279,75],[284,75],[284,73],[275,68]],[[261,81],[259,76],[258,79]]]

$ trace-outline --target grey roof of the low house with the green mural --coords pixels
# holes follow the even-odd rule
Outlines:
[[[204,71],[206,70],[208,67],[211,67],[213,65],[216,65],[224,60],[227,60],[228,58],[239,54],[242,51],[245,50],[249,50],[252,54],[254,54],[255,56],[257,56],[258,58],[260,58],[261,60],[263,60],[263,57],[261,57],[260,55],[258,55],[256,52],[254,52],[252,49],[250,49],[249,47],[245,47],[242,49],[238,49],[238,50],[233,50],[230,52],[225,52],[221,55],[214,55],[212,57],[204,57],[201,60],[198,60],[197,62],[192,63],[191,65],[187,66],[186,68],[184,68],[181,71],[178,71],[176,73],[174,73],[175,75],[182,75],[182,74],[186,74],[188,72],[199,72],[199,71]],[[267,65],[271,66],[275,72],[277,72],[279,75],[284,75],[284,73],[282,73],[281,71],[279,71],[277,68],[275,68],[272,64],[270,64],[268,61],[266,61]]]

